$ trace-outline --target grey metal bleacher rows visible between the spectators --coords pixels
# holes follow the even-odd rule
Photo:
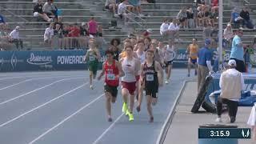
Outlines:
[[[174,18],[178,11],[184,6],[192,6],[191,0],[157,0],[156,4],[143,4],[142,13],[146,14],[142,17],[146,21],[146,27],[153,30],[151,36],[153,38],[161,38],[159,27],[163,18]],[[225,3],[226,1],[224,1]],[[256,1],[251,2],[250,8],[255,10]],[[94,15],[96,21],[103,26],[104,38],[106,42],[110,42],[112,38],[126,38],[127,31],[122,29],[109,29],[112,18],[109,12],[103,11],[102,8],[105,0],[62,0],[55,1],[58,8],[62,9],[63,23],[79,23],[88,22],[91,14]],[[242,6],[242,3],[241,3]],[[14,26],[21,26],[21,36],[24,38],[25,46],[28,48],[40,48],[42,46],[43,33],[46,29],[46,22],[38,22],[37,18],[33,18],[32,10],[34,3],[32,0],[5,0],[0,2],[0,13],[5,15],[6,21],[9,23],[10,29]],[[227,22],[230,22],[230,14],[234,6],[225,3],[223,12],[223,28]],[[256,20],[256,14],[252,12],[250,18]],[[135,18],[136,20],[136,18]],[[137,22],[130,22],[130,26],[137,30],[142,30]],[[118,24],[123,27],[122,23]],[[121,25],[121,26],[120,26]],[[243,40],[251,42],[256,32],[254,30],[245,30]],[[181,46],[184,47],[191,41],[191,38],[198,38],[202,41],[202,29],[182,29],[180,38],[182,38]],[[183,45],[182,45],[183,44]]]

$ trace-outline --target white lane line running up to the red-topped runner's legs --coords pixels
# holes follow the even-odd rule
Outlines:
[[[38,138],[35,138],[33,141],[31,141],[29,144],[33,144],[34,142],[37,142],[40,138],[44,137],[46,134],[50,133],[50,131],[56,129],[58,126],[61,126],[64,122],[66,122],[67,120],[69,120],[70,118],[74,117],[74,115],[80,113],[82,110],[84,110],[86,107],[90,106],[91,104],[93,104],[94,102],[97,102],[100,98],[102,98],[104,94],[98,96],[98,98],[95,98],[93,101],[89,102],[86,104],[86,106],[82,106],[81,109],[77,110],[76,112],[74,112],[73,114],[71,114],[70,116],[66,117],[65,119],[62,120],[62,122],[58,122],[57,125],[55,125],[54,127],[50,128],[49,130],[47,130],[46,132],[44,132],[43,134],[41,134],[40,136],[38,136]]]

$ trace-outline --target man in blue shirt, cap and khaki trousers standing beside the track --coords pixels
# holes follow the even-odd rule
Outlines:
[[[198,91],[205,82],[206,76],[210,73],[214,73],[211,66],[212,52],[210,50],[211,41],[209,38],[205,40],[205,46],[198,51]]]

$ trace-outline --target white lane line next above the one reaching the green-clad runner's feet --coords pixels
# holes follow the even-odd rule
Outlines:
[[[52,86],[52,85],[54,85],[55,83],[62,82],[62,81],[66,81],[66,80],[71,80],[71,79],[81,79],[81,78],[64,78],[64,79],[61,79],[61,80],[52,82],[52,83],[50,83],[50,84],[48,84],[48,85],[46,85],[46,86],[42,86],[42,87],[39,87],[38,89],[32,90],[32,91],[30,91],[30,92],[27,92],[26,94],[21,94],[21,95],[19,95],[18,97],[10,98],[9,100],[6,100],[5,102],[0,102],[0,106],[3,105],[3,104],[6,104],[7,102],[14,101],[15,99],[22,98],[22,97],[26,96],[27,94],[31,94],[31,93],[34,93],[34,92],[36,92],[36,91],[38,91],[38,90],[42,90],[42,89],[44,89],[44,88],[46,88],[46,87]]]

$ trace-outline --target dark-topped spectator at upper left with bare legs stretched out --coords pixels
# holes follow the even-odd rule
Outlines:
[[[53,22],[52,18],[49,18],[47,14],[42,12],[42,0],[38,0],[38,3],[34,6],[33,14],[34,14],[34,17],[40,17],[46,22]]]

